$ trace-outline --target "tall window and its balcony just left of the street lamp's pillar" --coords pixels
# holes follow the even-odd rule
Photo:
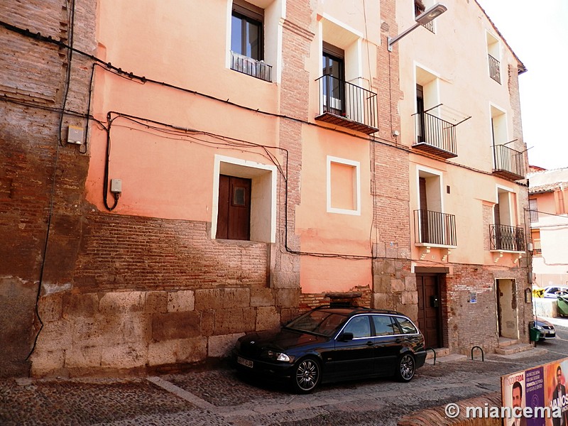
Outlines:
[[[377,128],[377,95],[364,86],[370,78],[361,77],[362,34],[355,34],[336,21],[321,20],[322,76],[320,111],[315,119],[362,133]]]

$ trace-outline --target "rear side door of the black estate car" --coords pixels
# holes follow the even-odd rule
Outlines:
[[[391,315],[371,315],[375,329],[376,374],[386,376],[393,373],[396,360],[403,349],[404,336],[400,334],[398,324]]]

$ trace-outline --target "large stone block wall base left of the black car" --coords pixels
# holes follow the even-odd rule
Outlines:
[[[223,358],[244,332],[280,325],[277,295],[254,287],[47,295],[31,374],[143,373]]]

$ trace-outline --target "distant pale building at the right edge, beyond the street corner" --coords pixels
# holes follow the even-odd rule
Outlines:
[[[568,285],[568,168],[529,173],[532,283]]]

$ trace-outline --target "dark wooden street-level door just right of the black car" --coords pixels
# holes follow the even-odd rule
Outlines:
[[[439,348],[442,346],[442,329],[440,328],[442,301],[437,275],[416,275],[416,288],[418,290],[418,328],[424,334],[426,346]]]

